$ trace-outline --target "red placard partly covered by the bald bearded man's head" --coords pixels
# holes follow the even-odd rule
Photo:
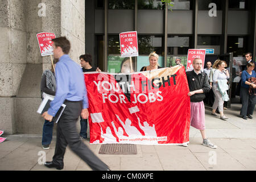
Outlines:
[[[193,70],[193,60],[199,58],[203,61],[202,71],[204,70],[205,49],[188,49],[187,69],[186,71]]]

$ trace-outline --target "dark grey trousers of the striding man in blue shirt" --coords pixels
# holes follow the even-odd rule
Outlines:
[[[80,139],[79,133],[77,133],[76,122],[81,114],[82,101],[72,102],[66,100],[64,104],[67,106],[57,123],[57,139],[52,163],[60,167],[64,166],[63,158],[68,145],[94,171],[107,170],[108,166],[90,151]]]

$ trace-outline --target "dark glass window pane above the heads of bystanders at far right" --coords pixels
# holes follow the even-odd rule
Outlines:
[[[248,38],[247,36],[228,36],[228,52],[233,52],[233,56],[243,56],[248,52]]]

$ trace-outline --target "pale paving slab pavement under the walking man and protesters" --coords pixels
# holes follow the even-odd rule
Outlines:
[[[203,146],[199,130],[191,127],[188,147],[137,145],[137,155],[98,154],[100,144],[89,144],[90,150],[113,171],[253,171],[256,170],[256,119],[238,117],[241,105],[225,110],[227,121],[210,115],[205,109],[206,134],[218,146],[216,150]],[[256,112],[253,117],[256,118]],[[57,171],[44,167],[52,159],[56,137],[49,150],[43,150],[41,135],[3,135],[0,143],[0,170]],[[44,153],[45,152],[45,153]],[[90,167],[67,147],[63,171],[91,171]]]

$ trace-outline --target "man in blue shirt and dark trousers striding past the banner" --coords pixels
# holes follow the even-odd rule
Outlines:
[[[55,154],[51,162],[44,165],[49,168],[63,169],[63,158],[67,145],[75,154],[80,156],[93,170],[109,170],[92,151],[82,142],[77,133],[76,122],[79,116],[86,119],[88,113],[88,97],[84,75],[80,66],[68,56],[71,48],[70,42],[65,37],[52,39],[53,55],[59,62],[56,64],[56,95],[51,102],[51,107],[42,114],[42,117],[52,121],[60,106],[66,105],[57,124],[57,139]]]

